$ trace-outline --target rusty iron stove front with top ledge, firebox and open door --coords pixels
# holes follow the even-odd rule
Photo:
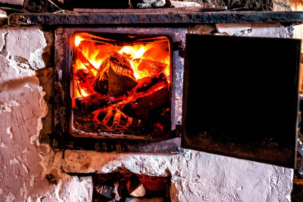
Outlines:
[[[56,148],[178,154],[183,147],[293,168],[300,40],[186,32],[196,24],[290,25],[301,23],[301,15],[112,11],[15,14],[9,20],[58,26]],[[148,58],[148,50],[138,58],[130,49],[125,51],[160,43],[166,43],[165,48],[153,54],[165,59]],[[104,53],[93,55],[93,49]],[[146,60],[158,64],[149,76],[142,74],[150,70],[142,68]],[[147,97],[140,97],[142,92],[148,92]],[[136,99],[128,99],[132,96]],[[87,98],[98,101],[86,102]],[[143,110],[145,104],[151,108]],[[158,104],[161,110],[154,110]]]

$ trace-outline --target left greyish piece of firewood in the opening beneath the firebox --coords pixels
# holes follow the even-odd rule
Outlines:
[[[114,199],[114,200],[121,199],[121,196],[118,192],[118,188],[119,188],[118,181],[115,181],[114,183],[105,182],[105,183],[95,186],[95,189],[99,194],[101,194],[109,199]]]

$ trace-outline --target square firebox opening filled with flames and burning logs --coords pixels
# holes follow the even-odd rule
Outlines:
[[[169,138],[167,36],[81,32],[72,37],[71,45],[73,135]]]

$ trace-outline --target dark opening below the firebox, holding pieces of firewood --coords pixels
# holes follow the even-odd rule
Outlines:
[[[129,171],[93,176],[93,202],[170,202],[171,178]]]

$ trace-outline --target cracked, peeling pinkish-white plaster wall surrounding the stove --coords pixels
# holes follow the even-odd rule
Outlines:
[[[191,31],[243,36],[268,32],[265,35],[273,37],[291,37],[292,33],[281,25],[254,24],[204,25]],[[45,34],[40,27],[2,27],[0,34],[0,201],[90,201],[91,177],[67,173],[117,169],[171,175],[172,201],[290,201],[293,170],[288,168],[188,149],[180,155],[113,154],[60,151],[39,142],[42,118],[49,106],[45,100],[51,90],[43,91],[40,82],[46,81],[40,78],[39,82],[36,75],[45,74],[35,70],[46,66],[42,55],[52,34]]]

